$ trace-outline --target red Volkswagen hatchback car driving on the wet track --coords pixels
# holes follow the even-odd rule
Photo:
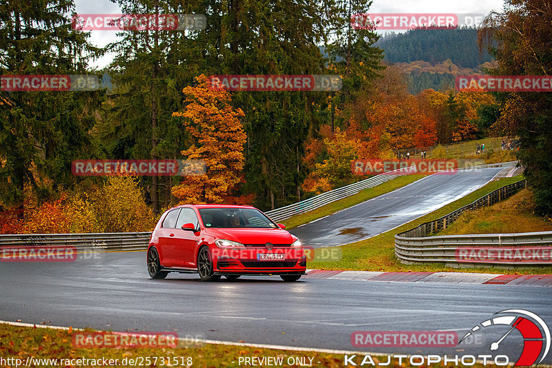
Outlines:
[[[153,230],[148,272],[151,278],[197,272],[201,280],[268,274],[299,280],[306,272],[305,252],[285,228],[250,206],[171,208]]]

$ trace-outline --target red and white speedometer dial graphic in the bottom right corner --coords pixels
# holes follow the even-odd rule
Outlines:
[[[499,316],[497,316],[499,315]],[[479,325],[473,327],[463,338],[459,344],[471,336],[475,331],[480,331],[485,327],[495,325],[506,325],[511,328],[501,338],[491,343],[489,349],[496,351],[502,341],[507,338],[514,329],[520,331],[523,337],[523,351],[520,358],[515,362],[515,365],[534,365],[538,358],[537,364],[542,362],[550,350],[550,329],[544,323],[544,320],[531,311],[524,309],[506,309],[495,313],[496,317],[484,320]]]

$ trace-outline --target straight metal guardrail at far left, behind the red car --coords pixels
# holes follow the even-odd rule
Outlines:
[[[0,248],[75,247],[79,251],[141,250],[150,243],[151,232],[86,234],[3,234]]]

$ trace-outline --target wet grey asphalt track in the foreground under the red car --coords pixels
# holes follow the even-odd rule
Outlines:
[[[212,340],[410,354],[489,354],[484,347],[357,348],[354,331],[453,330],[464,335],[497,311],[529,309],[552,326],[552,288],[389,283],[273,276],[204,283],[197,275],[152,280],[145,252],[71,263],[1,263],[0,319],[114,331],[177,331]],[[492,330],[492,331],[491,331]],[[457,351],[460,349],[460,352]],[[515,331],[498,354],[520,354]],[[547,358],[547,362],[552,362]]]

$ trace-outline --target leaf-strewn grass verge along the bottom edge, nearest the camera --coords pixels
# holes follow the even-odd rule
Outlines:
[[[93,332],[86,329],[86,332]],[[72,345],[72,334],[81,331],[68,331],[49,328],[19,327],[0,324],[0,356],[6,362],[0,362],[0,367],[15,367],[11,359],[19,359],[21,365],[26,365],[28,357],[32,357],[34,364],[30,367],[244,367],[247,364],[239,364],[239,358],[282,358],[282,365],[275,365],[274,360],[270,364],[253,364],[255,367],[344,367],[343,354],[327,354],[317,351],[292,351],[281,349],[264,349],[258,347],[231,346],[206,344],[194,348],[95,348],[81,349]],[[150,360],[148,364],[148,359]],[[154,360],[157,361],[154,364]],[[161,361],[161,358],[163,361]],[[190,360],[188,360],[190,358]],[[299,360],[295,360],[299,358]],[[359,365],[364,356],[354,358]],[[387,356],[372,356],[375,364],[387,362]],[[10,359],[10,360],[7,360]],[[53,362],[37,362],[37,359],[55,359]],[[79,364],[77,359],[88,364]],[[84,361],[88,359],[88,361]],[[117,364],[115,363],[117,359]],[[175,360],[176,359],[176,360]],[[288,361],[289,359],[289,361]],[[311,360],[312,359],[312,360]],[[98,360],[99,362],[92,362]],[[111,362],[108,362],[112,360]],[[170,360],[170,364],[168,364]],[[402,367],[414,367],[405,359]],[[123,364],[126,361],[126,364]],[[294,364],[295,361],[295,364]],[[393,360],[394,361],[394,360]],[[416,360],[417,362],[418,360]],[[188,362],[191,364],[188,365]],[[304,364],[301,364],[304,362]],[[312,362],[312,363],[311,363]],[[141,363],[141,364],[140,364]],[[177,363],[177,364],[174,364]],[[291,364],[290,364],[291,363]],[[252,364],[249,364],[252,365]],[[416,367],[419,367],[417,365]],[[444,367],[442,364],[432,364],[432,367]],[[472,367],[483,367],[475,364]],[[497,367],[486,365],[485,367]]]

